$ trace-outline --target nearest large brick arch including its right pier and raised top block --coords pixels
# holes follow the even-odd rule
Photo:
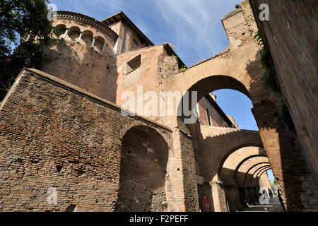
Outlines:
[[[273,167],[273,174],[283,182],[281,191],[282,196],[285,197],[285,207],[287,210],[303,210],[307,207],[302,202],[297,202],[305,200],[301,197],[302,192],[293,191],[302,191],[302,187],[305,186],[304,178],[312,178],[312,176],[306,168],[303,156],[298,151],[299,147],[295,143],[295,138],[290,136],[283,120],[277,114],[281,98],[261,83],[260,77],[264,72],[260,67],[261,47],[257,47],[253,38],[248,35],[249,28],[257,30],[254,20],[248,16],[249,11],[249,7],[242,7],[235,13],[229,13],[223,19],[224,28],[230,39],[230,49],[189,67],[184,72],[165,78],[160,88],[165,91],[185,92],[198,81],[211,75],[226,75],[242,83],[252,100],[252,112]],[[201,89],[204,90],[205,87]],[[208,92],[211,91],[213,90],[208,90]],[[176,117],[176,119],[180,118]],[[179,129],[185,127],[182,121],[176,121],[175,124],[179,126]],[[293,178],[293,175],[298,177]]]

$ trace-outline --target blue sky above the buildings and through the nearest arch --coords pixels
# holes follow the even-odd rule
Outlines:
[[[191,66],[228,49],[220,21],[240,0],[51,0],[57,10],[83,13],[102,20],[123,11],[154,43],[171,43],[184,64]],[[217,90],[218,105],[240,129],[258,130],[252,102],[235,90]]]

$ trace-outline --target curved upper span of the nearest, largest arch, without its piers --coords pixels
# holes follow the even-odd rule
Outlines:
[[[255,50],[255,49],[253,49]],[[254,58],[256,52],[250,57]],[[211,93],[218,89],[233,89],[244,93],[253,99],[254,88],[251,88],[256,78],[259,78],[260,70],[248,71],[252,64],[249,59],[242,56],[230,56],[229,52],[223,52],[217,57],[207,59],[187,71],[177,73],[175,76],[163,81],[164,90],[197,90],[200,93]],[[199,95],[203,97],[204,95]]]

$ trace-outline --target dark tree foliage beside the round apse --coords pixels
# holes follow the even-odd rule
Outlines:
[[[47,0],[0,0],[0,100],[23,67],[40,69],[52,23]]]

